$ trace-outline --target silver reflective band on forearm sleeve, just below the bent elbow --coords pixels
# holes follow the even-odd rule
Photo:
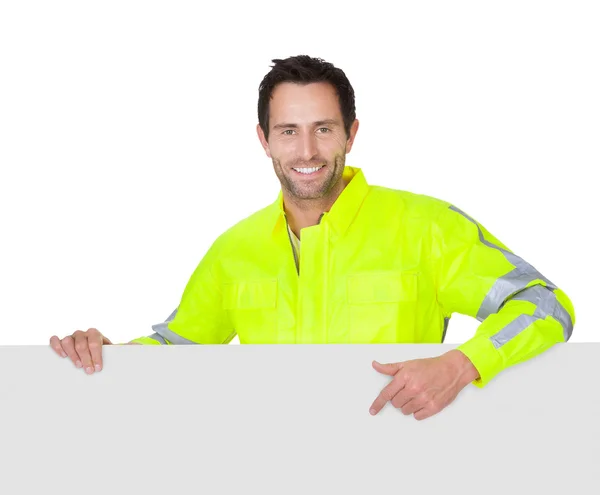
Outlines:
[[[565,342],[569,340],[573,333],[573,322],[569,312],[558,302],[556,294],[542,285],[527,287],[519,292],[512,300],[530,301],[536,305],[533,315],[519,315],[499,332],[492,335],[490,340],[496,349],[502,347],[510,339],[521,333],[529,325],[537,320],[543,320],[547,316],[552,316],[560,322],[563,327],[563,337]]]

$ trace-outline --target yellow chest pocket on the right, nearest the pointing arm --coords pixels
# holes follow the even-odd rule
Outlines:
[[[417,335],[419,272],[393,270],[348,276],[351,343],[411,343]]]

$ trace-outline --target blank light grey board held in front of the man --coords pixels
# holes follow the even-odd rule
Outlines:
[[[108,346],[86,375],[0,347],[0,493],[600,493],[600,344],[567,343],[417,421],[372,360],[454,345]]]

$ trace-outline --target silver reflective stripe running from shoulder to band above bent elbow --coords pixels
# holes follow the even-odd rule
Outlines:
[[[485,244],[493,249],[497,249],[504,254],[506,259],[511,264],[515,265],[514,270],[511,270],[506,275],[503,275],[496,280],[490,291],[485,296],[476,316],[479,321],[485,320],[492,313],[497,313],[504,304],[504,301],[510,298],[513,294],[525,289],[527,285],[534,280],[543,280],[550,289],[558,288],[525,260],[516,254],[513,254],[506,249],[496,246],[495,244],[486,240],[483,237],[483,232],[479,224],[465,212],[454,205],[451,205],[449,208],[457,213],[460,213],[467,220],[475,224],[477,230],[479,231],[479,240],[482,244]]]

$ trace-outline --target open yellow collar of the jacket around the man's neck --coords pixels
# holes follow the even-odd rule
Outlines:
[[[347,183],[346,187],[335,200],[331,209],[324,212],[320,222],[327,222],[337,236],[342,236],[346,232],[369,192],[369,184],[362,169],[345,166],[343,179]],[[287,228],[282,191],[279,191],[277,200],[271,207],[275,216],[273,234],[276,234],[279,229]]]

